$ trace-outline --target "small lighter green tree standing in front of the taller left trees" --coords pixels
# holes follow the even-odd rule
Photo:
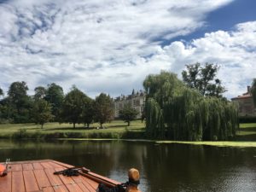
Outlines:
[[[32,119],[35,123],[41,125],[43,129],[44,124],[53,118],[49,102],[46,102],[44,99],[35,100],[32,108]]]

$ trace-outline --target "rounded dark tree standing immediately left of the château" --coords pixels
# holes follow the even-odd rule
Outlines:
[[[113,119],[113,101],[110,96],[104,93],[96,96],[95,110],[96,121],[101,124],[102,128],[102,124]]]

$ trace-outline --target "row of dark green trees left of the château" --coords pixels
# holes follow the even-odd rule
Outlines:
[[[64,95],[60,85],[38,86],[34,95],[27,95],[26,82],[17,81],[9,86],[7,96],[0,101],[0,123],[37,123],[49,121],[84,124],[99,122],[101,127],[113,119],[113,99],[101,93],[92,99],[73,85]],[[0,96],[3,90],[0,89]]]

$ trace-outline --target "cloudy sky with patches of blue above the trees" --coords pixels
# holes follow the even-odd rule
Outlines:
[[[149,73],[212,62],[225,96],[256,78],[255,0],[0,0],[0,87],[52,82],[110,96]]]

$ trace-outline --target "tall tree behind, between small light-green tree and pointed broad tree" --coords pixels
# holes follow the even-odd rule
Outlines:
[[[64,99],[62,87],[55,83],[48,84],[44,99],[51,105],[51,111],[55,115],[55,120],[60,120],[61,105]]]

